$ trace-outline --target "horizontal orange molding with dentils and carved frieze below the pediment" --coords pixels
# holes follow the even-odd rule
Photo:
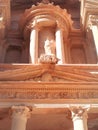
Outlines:
[[[91,84],[91,83],[90,83]],[[6,82],[0,84],[0,99],[96,99],[98,98],[98,84],[61,84]],[[14,86],[14,87],[13,87]],[[29,86],[29,87],[28,87]],[[91,88],[92,87],[92,88]]]

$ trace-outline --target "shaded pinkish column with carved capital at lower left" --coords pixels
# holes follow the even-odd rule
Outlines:
[[[26,130],[26,123],[29,117],[29,108],[25,106],[12,107],[11,130]]]

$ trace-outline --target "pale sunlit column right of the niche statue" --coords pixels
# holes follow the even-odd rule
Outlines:
[[[56,35],[56,57],[59,59],[58,64],[64,64],[65,55],[64,55],[64,43],[63,43],[62,29],[57,28],[55,35]]]

